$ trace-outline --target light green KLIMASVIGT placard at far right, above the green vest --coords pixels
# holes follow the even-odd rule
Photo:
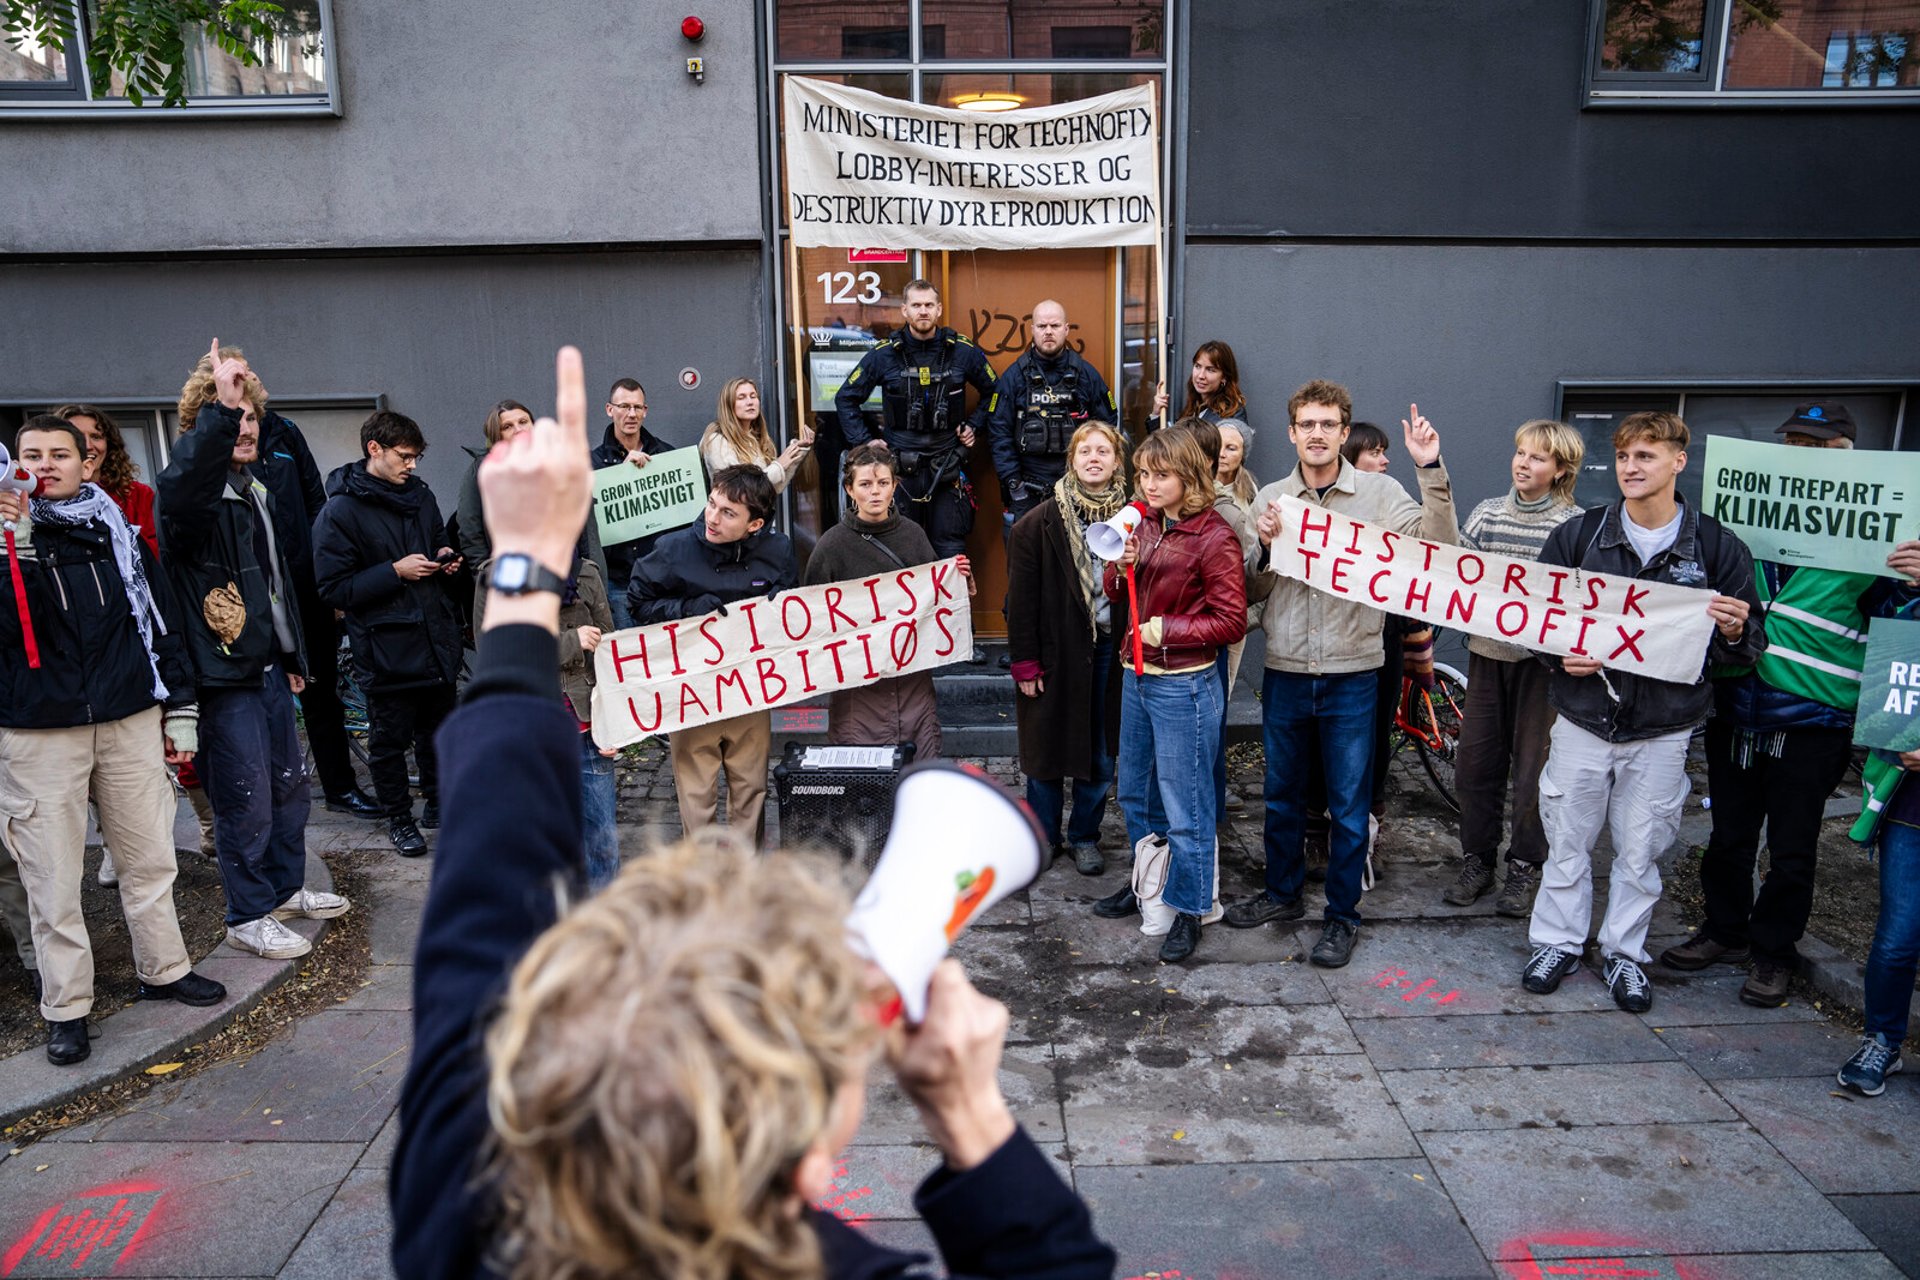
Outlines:
[[[1897,578],[1895,543],[1920,537],[1920,453],[1707,441],[1701,509],[1759,560]]]

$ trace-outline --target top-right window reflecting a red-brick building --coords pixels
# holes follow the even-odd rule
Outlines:
[[[1920,0],[1592,0],[1590,104],[1920,104]]]

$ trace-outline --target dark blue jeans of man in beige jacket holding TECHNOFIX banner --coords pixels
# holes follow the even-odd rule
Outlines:
[[[1327,919],[1359,923],[1373,808],[1375,672],[1300,676],[1269,670],[1260,691],[1267,747],[1267,892],[1300,896],[1308,875],[1308,760],[1327,766]]]

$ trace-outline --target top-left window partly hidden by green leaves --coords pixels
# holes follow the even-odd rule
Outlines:
[[[278,0],[273,36],[248,63],[200,35],[186,42],[186,104],[163,107],[157,94],[144,106],[127,98],[119,71],[96,79],[86,65],[86,42],[100,0],[75,0],[75,36],[65,48],[46,46],[27,33],[0,38],[0,115],[163,119],[177,109],[223,115],[338,115],[330,0]]]

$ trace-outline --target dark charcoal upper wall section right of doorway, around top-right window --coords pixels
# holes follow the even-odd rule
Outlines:
[[[1582,109],[1588,0],[1192,0],[1188,232],[1910,238],[1920,111]]]

